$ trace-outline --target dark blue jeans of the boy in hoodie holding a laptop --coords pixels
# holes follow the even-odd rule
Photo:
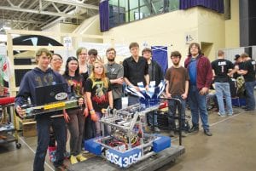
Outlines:
[[[57,141],[56,161],[54,166],[61,166],[64,160],[64,152],[66,151],[67,129],[64,117],[38,117],[38,146],[34,159],[33,170],[44,171],[44,161],[49,144],[49,126],[52,126]]]

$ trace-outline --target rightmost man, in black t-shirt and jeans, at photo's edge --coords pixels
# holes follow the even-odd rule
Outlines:
[[[256,84],[255,81],[255,72],[256,64],[248,54],[241,54],[241,60],[244,62],[244,65],[239,68],[237,71],[238,74],[241,74],[245,80],[245,90],[246,90],[246,111],[255,110],[255,97],[254,97],[254,87]]]

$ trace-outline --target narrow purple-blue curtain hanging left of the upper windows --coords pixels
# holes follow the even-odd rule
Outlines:
[[[99,6],[101,31],[109,30],[109,8],[108,0],[103,0]]]

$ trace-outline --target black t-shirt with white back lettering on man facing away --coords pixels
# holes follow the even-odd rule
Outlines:
[[[215,72],[214,82],[229,83],[230,77],[227,75],[234,65],[230,60],[218,59],[212,61],[212,70]]]

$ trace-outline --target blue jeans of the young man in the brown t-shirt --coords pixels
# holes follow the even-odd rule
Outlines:
[[[172,95],[172,98],[178,99],[181,101],[181,118],[182,118],[182,129],[185,130],[185,110],[186,110],[186,100],[183,100],[181,95]],[[176,111],[178,110],[178,103],[177,100],[168,100],[168,124],[169,127],[172,129],[176,128],[175,119],[173,117],[176,116]]]

